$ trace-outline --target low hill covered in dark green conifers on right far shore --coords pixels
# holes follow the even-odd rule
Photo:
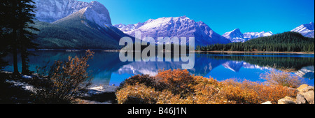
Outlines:
[[[283,34],[251,39],[244,43],[197,46],[196,50],[314,52],[314,38],[307,38],[296,32],[285,32]]]

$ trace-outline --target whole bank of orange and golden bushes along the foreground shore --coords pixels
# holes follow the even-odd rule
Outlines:
[[[281,85],[248,80],[218,82],[214,78],[189,75],[188,71],[179,69],[160,71],[158,75],[151,78],[148,75],[137,75],[136,78],[148,80],[133,82],[131,78],[127,79],[122,89],[116,92],[120,101],[118,103],[126,103],[132,98],[135,103],[139,103],[136,102],[137,100],[141,101],[140,103],[157,104],[259,104],[265,101],[277,103],[281,98],[297,95],[295,89]],[[156,86],[161,83],[164,86]],[[160,90],[155,91],[154,88]],[[150,94],[153,96],[148,96]]]

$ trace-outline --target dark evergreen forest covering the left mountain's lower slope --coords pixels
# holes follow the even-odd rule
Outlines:
[[[118,40],[123,34],[113,31],[113,27],[104,28],[91,25],[84,19],[73,18],[54,23],[36,21],[34,27],[41,31],[35,42],[38,48],[48,49],[119,49]]]

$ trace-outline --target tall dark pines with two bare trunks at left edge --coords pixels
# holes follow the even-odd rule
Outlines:
[[[18,50],[21,52],[22,59],[22,74],[27,74],[28,55],[27,49],[35,48],[36,44],[32,43],[35,34],[31,30],[37,30],[31,27],[34,24],[34,1],[32,0],[1,0],[1,21],[5,22],[1,29],[6,29],[6,34],[9,34],[8,46],[13,54],[14,75],[18,75]],[[3,34],[3,33],[2,33]]]

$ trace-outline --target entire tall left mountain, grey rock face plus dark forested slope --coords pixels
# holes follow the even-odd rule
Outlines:
[[[38,48],[116,50],[120,38],[130,37],[112,26],[109,11],[97,1],[37,0],[36,5]]]

